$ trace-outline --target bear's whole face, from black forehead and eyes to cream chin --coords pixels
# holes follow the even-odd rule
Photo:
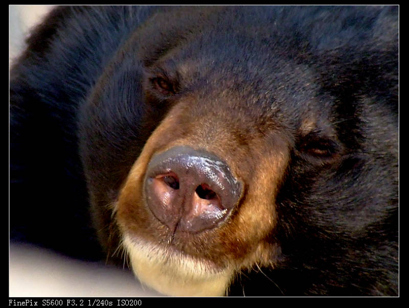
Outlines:
[[[386,215],[354,201],[379,174],[363,167],[376,148],[359,141],[376,130],[358,123],[376,117],[391,133],[389,120],[367,104],[369,84],[343,92],[360,76],[331,61],[348,49],[312,55],[262,22],[192,20],[191,33],[163,20],[161,34],[136,32],[83,107],[102,242],[171,295],[223,295],[240,271],[291,265],[303,249],[317,267],[321,249]]]

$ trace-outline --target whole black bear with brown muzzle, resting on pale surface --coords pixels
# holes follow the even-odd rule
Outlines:
[[[399,294],[398,6],[62,6],[10,70],[10,240],[173,296]]]

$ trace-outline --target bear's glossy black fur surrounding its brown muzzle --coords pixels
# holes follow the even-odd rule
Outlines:
[[[231,294],[397,295],[397,15],[396,6],[57,8],[10,73],[11,240],[85,259],[103,257],[102,243],[112,254],[107,204],[171,107],[166,92],[154,104],[144,92],[167,59],[175,91],[235,91],[249,123],[274,117],[291,147],[270,234],[276,267],[243,272]],[[172,75],[186,59],[189,73]],[[305,114],[318,126],[308,135]]]

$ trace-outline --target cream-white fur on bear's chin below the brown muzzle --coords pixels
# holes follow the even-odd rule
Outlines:
[[[129,235],[123,244],[139,280],[166,295],[223,296],[233,276],[229,269],[218,271],[210,263]]]

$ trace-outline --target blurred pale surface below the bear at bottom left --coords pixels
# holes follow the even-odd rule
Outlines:
[[[160,296],[131,271],[67,258],[30,245],[10,246],[10,297]]]

